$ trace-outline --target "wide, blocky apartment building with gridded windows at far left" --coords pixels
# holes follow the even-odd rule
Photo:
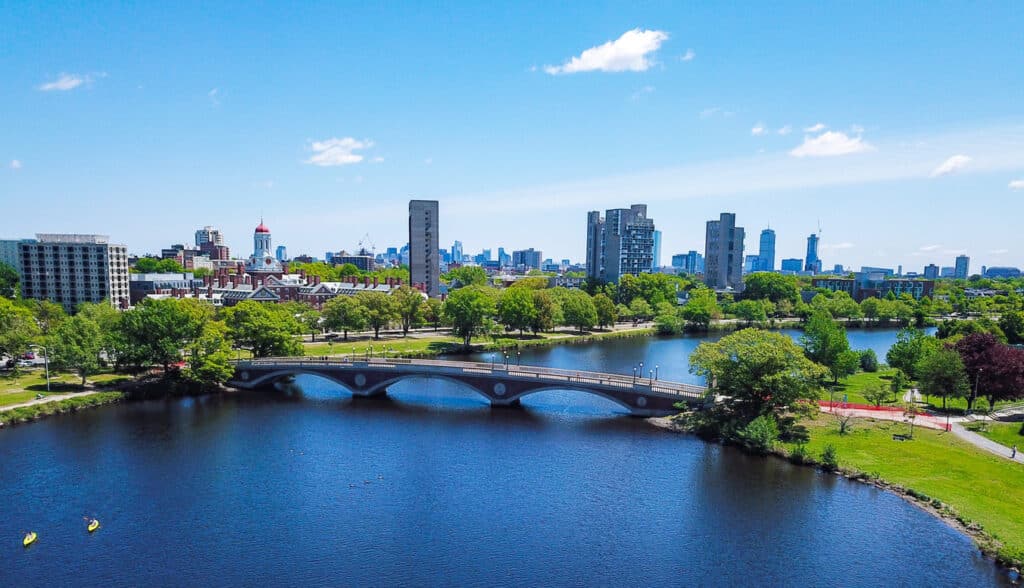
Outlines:
[[[9,242],[8,242],[9,243]],[[82,302],[129,303],[128,249],[105,235],[36,235],[17,243],[22,295],[73,310]],[[5,246],[9,248],[9,246]]]

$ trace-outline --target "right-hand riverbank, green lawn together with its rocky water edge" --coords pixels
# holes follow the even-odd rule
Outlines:
[[[689,432],[675,417],[648,422]],[[915,427],[911,440],[894,440],[909,432],[904,423],[855,418],[846,434],[826,415],[803,424],[810,442],[778,444],[774,456],[821,467],[819,456],[831,446],[835,473],[892,492],[971,537],[998,564],[1015,573],[1024,568],[1024,467],[943,431]]]

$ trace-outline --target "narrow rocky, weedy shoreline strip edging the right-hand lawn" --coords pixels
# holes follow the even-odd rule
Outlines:
[[[683,426],[680,426],[676,422],[676,416],[668,417],[650,417],[644,419],[650,425],[655,428],[659,428],[669,432],[676,434],[687,434],[692,435],[693,433]],[[695,436],[695,435],[694,435]],[[706,443],[713,443],[708,439],[701,439]],[[772,450],[767,456],[770,458],[781,459],[793,465],[813,467],[824,473],[831,473],[851,481],[857,481],[860,484],[865,484],[874,487],[879,490],[889,492],[905,502],[912,504],[913,506],[920,508],[921,510],[931,514],[932,516],[942,520],[951,529],[957,531],[958,533],[969,537],[978,548],[978,550],[986,557],[989,558],[992,563],[1004,570],[1009,576],[1014,584],[1020,584],[1024,577],[1021,576],[1021,571],[1024,570],[1024,561],[1018,559],[1012,559],[1005,557],[1000,552],[999,548],[1002,547],[1002,543],[996,538],[989,535],[984,528],[982,528],[977,522],[969,522],[964,519],[955,511],[955,509],[937,498],[931,498],[922,493],[915,492],[913,489],[909,489],[897,484],[889,482],[881,477],[874,477],[870,474],[860,471],[855,468],[842,467],[836,471],[830,471],[822,468],[816,461],[802,461],[798,462],[791,459],[790,454],[787,454],[783,449],[776,448]]]

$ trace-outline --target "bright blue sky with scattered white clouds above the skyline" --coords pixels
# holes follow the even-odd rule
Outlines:
[[[665,263],[728,210],[826,267],[1024,265],[1024,4],[554,4],[0,0],[0,237],[323,256],[425,198],[581,259],[647,203]]]

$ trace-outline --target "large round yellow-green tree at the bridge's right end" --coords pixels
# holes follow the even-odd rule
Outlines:
[[[797,401],[816,400],[826,373],[790,337],[758,329],[701,343],[690,355],[690,372],[707,378],[725,409],[744,424]]]

